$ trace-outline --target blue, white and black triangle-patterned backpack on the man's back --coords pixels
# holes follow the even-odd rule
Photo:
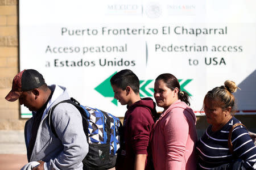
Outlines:
[[[122,124],[119,118],[99,109],[80,105],[72,97],[70,100],[64,100],[60,103],[73,104],[81,113],[82,125],[89,144],[89,152],[82,160],[83,169],[113,168],[117,159],[117,151],[120,147]],[[60,103],[52,107],[51,113]],[[52,115],[51,113],[48,115]],[[53,134],[57,137],[52,121],[49,122],[51,122]]]

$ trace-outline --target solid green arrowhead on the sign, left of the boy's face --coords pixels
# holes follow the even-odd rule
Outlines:
[[[115,73],[117,73],[117,71]],[[99,92],[104,97],[113,97],[114,92],[113,92],[113,89],[112,89],[111,84],[110,84],[110,79],[112,78],[112,76],[114,74],[110,75],[107,79],[104,80],[104,82],[102,82],[100,85],[95,87],[94,90]],[[115,105],[117,105],[117,103],[118,103],[117,99],[113,99],[111,102]]]

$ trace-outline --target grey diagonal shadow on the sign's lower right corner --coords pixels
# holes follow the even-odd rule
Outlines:
[[[256,112],[256,70],[247,76],[238,87],[241,90],[237,90],[234,93],[237,101],[237,110]]]

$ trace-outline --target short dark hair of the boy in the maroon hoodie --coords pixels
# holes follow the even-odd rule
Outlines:
[[[112,85],[125,90],[127,86],[133,89],[135,94],[139,93],[139,78],[129,69],[121,70],[110,79]]]

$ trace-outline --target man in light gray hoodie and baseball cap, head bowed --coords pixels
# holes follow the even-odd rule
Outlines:
[[[70,99],[65,87],[47,86],[38,71],[23,70],[14,77],[5,99],[19,99],[32,111],[24,129],[28,164],[23,169],[82,169],[88,143],[80,112],[72,104],[61,103],[48,115],[55,104]]]

